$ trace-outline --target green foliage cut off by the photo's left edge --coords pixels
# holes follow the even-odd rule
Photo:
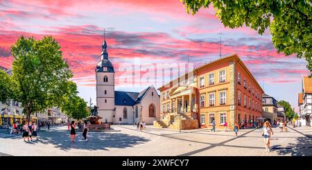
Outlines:
[[[0,102],[6,103],[13,94],[13,83],[5,71],[0,70]]]

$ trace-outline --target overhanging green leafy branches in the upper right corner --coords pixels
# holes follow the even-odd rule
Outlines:
[[[305,58],[312,76],[312,3],[311,0],[180,0],[187,12],[196,14],[212,3],[224,26],[248,26],[261,35],[270,28],[272,44],[286,56],[297,54]]]

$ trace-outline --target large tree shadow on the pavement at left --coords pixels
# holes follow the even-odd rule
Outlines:
[[[21,135],[14,135],[11,139],[21,139]],[[107,148],[128,148],[138,144],[144,144],[149,141],[145,137],[127,135],[124,133],[110,132],[89,132],[89,141],[85,141],[83,133],[76,132],[76,141],[74,144],[70,142],[69,130],[40,130],[38,140],[33,139],[33,142],[26,144],[53,144],[55,148],[60,148],[62,151],[68,151],[72,148],[83,149],[88,151],[107,150]],[[7,137],[1,137],[7,138]]]

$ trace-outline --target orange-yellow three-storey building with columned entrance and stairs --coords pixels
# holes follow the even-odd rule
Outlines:
[[[262,116],[263,90],[236,55],[209,62],[159,87],[161,119],[155,127],[191,129],[252,124]]]

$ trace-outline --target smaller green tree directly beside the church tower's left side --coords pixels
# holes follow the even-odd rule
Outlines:
[[[60,104],[62,112],[65,112],[65,114],[73,119],[83,119],[87,117],[87,103],[77,95],[76,83],[69,82],[67,92],[67,95],[62,97],[62,103]]]

